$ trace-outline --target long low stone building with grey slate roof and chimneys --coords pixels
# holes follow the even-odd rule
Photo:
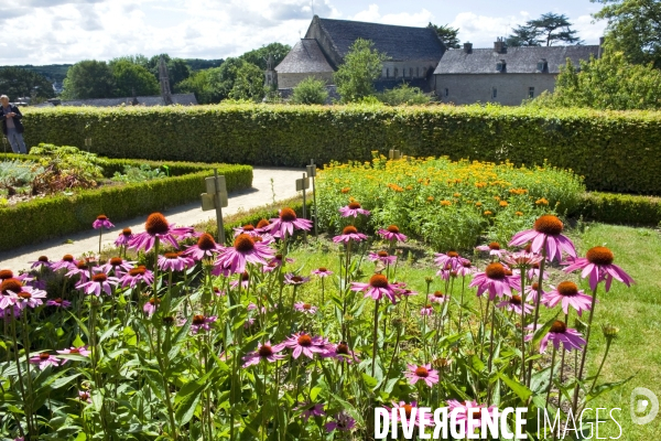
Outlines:
[[[494,47],[473,49],[465,43],[441,58],[434,90],[444,103],[518,106],[544,90],[553,92],[567,58],[578,66],[590,56],[600,56],[599,45],[506,47],[499,39]]]

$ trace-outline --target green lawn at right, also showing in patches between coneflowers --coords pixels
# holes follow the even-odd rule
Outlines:
[[[620,440],[657,440],[661,438],[661,416],[646,426],[635,424],[629,413],[629,401],[631,390],[636,387],[646,387],[661,399],[661,344],[659,343],[661,340],[661,278],[658,270],[661,268],[661,235],[650,228],[604,224],[588,224],[583,233],[573,230],[570,232],[570,235],[582,256],[587,249],[597,245],[609,247],[615,254],[615,263],[624,268],[637,282],[631,288],[614,282],[607,294],[604,293],[603,287],[599,287],[597,297],[599,302],[595,312],[587,359],[588,375],[597,372],[606,347],[600,325],[613,324],[619,327],[620,332],[610,347],[599,383],[618,381],[631,375],[635,377],[624,387],[592,401],[589,407],[593,409],[607,408],[608,410],[600,411],[602,419],[605,419],[605,416],[608,418],[610,409],[621,409],[621,411],[616,410],[613,413],[621,426]],[[337,246],[329,245],[328,241],[311,240],[307,247],[303,246],[290,254],[290,257],[295,258],[295,262],[289,267],[289,270],[300,268],[301,273],[306,276],[312,269],[323,266],[337,273],[338,255],[335,252],[336,249],[338,249]],[[420,252],[412,254],[409,258],[408,251],[404,251],[402,260],[408,261],[398,269],[398,280],[403,280],[411,289],[424,293],[425,277],[435,273],[435,267],[431,259]],[[364,272],[369,275],[372,263],[366,261],[362,268]],[[564,275],[557,268],[552,271],[550,282],[553,284],[560,280],[578,279],[577,273]],[[332,283],[330,280],[326,281],[326,290],[333,289]],[[435,277],[431,291],[443,290],[443,283],[440,278]],[[589,292],[587,283],[582,282],[581,286]],[[313,279],[312,283],[301,291],[301,294],[314,302],[318,299],[319,292],[318,282]],[[477,306],[474,294],[467,295],[467,299],[475,302]],[[412,300],[415,304],[423,301],[422,295]],[[550,316],[550,314],[544,315]],[[572,314],[572,318],[575,318],[575,314]],[[572,318],[570,325],[573,325],[574,322]],[[584,316],[584,320],[587,321],[587,316]],[[594,418],[594,411],[586,413],[586,418],[589,417]],[[608,439],[618,435],[619,428],[611,420],[599,426],[600,438]],[[596,439],[595,433],[593,433],[593,439]]]

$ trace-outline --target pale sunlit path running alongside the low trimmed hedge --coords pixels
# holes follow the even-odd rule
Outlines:
[[[240,209],[247,211],[268,205],[273,202],[273,197],[275,197],[275,201],[281,201],[295,196],[295,180],[300,179],[305,169],[254,168],[252,187],[231,193],[229,204],[227,208],[223,209],[223,214],[232,215]],[[273,180],[273,189],[271,189],[271,179]],[[275,193],[275,196],[273,196],[273,193]],[[181,226],[216,218],[215,211],[202,211],[199,201],[167,209],[163,214],[170,223]],[[145,219],[147,215],[115,223],[115,228],[110,232],[104,232],[101,247],[113,246],[115,239],[122,228],[129,227],[133,233],[144,232]],[[51,260],[58,260],[67,254],[78,257],[85,252],[98,250],[99,234],[97,230],[91,229],[91,220],[89,225],[87,232],[0,252],[0,269],[11,269],[15,272],[29,268],[28,262],[36,260],[39,256],[47,256]]]

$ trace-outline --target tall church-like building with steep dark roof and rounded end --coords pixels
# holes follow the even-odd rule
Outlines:
[[[333,74],[357,39],[370,40],[376,50],[390,57],[375,83],[378,90],[402,82],[432,90],[432,74],[445,52],[433,29],[319,19],[317,15],[305,37],[275,66],[278,88],[293,88],[308,76],[332,85]]]

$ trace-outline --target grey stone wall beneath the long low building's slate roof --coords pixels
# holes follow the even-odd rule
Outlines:
[[[499,103],[505,106],[519,106],[542,92],[553,92],[555,75],[552,74],[443,74],[434,75],[434,88],[443,103],[474,104]],[[494,97],[496,90],[496,97]]]

